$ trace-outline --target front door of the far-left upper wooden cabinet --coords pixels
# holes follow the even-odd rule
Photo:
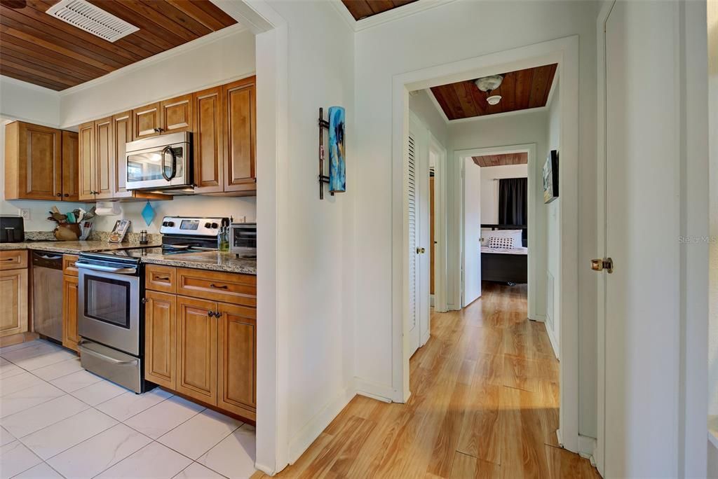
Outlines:
[[[55,128],[19,123],[20,199],[57,201],[62,197],[61,133]]]

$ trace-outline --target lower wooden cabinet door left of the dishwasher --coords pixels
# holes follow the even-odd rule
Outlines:
[[[27,331],[27,270],[0,271],[0,337]]]

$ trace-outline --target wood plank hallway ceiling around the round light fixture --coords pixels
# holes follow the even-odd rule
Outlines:
[[[432,87],[432,93],[449,120],[538,108],[549,100],[556,67],[554,63],[505,73],[500,87],[490,93],[479,90],[474,80]],[[489,95],[501,95],[498,105],[486,102]]]

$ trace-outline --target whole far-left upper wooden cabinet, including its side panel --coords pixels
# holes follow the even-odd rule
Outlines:
[[[22,121],[5,127],[5,199],[62,199],[62,132]]]

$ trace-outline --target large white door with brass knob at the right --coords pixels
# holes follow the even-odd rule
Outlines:
[[[617,1],[606,22],[604,477],[676,477],[679,411],[678,2]],[[589,265],[582,265],[589,267]]]

